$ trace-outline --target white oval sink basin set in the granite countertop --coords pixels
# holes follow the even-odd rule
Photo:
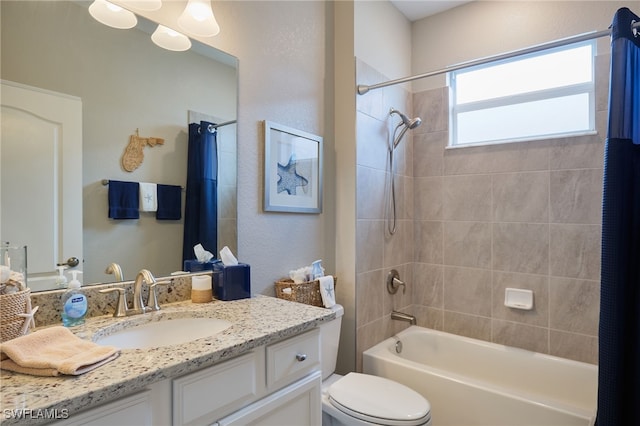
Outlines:
[[[231,325],[229,321],[217,318],[167,319],[116,331],[95,342],[120,349],[157,348],[213,336]]]

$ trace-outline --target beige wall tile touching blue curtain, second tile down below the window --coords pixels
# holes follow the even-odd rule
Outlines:
[[[600,223],[602,169],[552,171],[550,200],[552,223]]]

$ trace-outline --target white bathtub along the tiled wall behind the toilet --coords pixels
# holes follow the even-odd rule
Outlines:
[[[595,365],[427,328],[409,327],[365,351],[363,371],[422,394],[433,426],[587,426],[595,419]]]

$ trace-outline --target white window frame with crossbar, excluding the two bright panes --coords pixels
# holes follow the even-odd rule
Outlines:
[[[591,81],[573,84],[568,86],[561,86],[551,89],[543,89],[533,92],[521,93],[516,95],[508,95],[502,97],[496,97],[487,100],[480,100],[474,102],[468,102],[462,105],[457,105],[456,100],[456,76],[462,73],[472,72],[475,70],[481,70],[488,67],[493,67],[497,65],[502,65],[509,62],[516,62],[536,56],[544,56],[551,53],[556,53],[563,50],[570,50],[577,47],[582,46],[591,46]],[[566,46],[556,47],[553,49],[547,49],[540,52],[530,53],[527,55],[520,55],[516,57],[512,57],[509,59],[503,59],[496,62],[490,62],[487,64],[477,65],[473,67],[468,67],[464,69],[459,69],[456,71],[451,71],[447,73],[447,83],[449,85],[449,144],[448,148],[461,148],[468,146],[480,146],[480,145],[495,145],[495,144],[503,144],[503,143],[511,143],[511,142],[522,142],[522,141],[533,141],[533,140],[544,140],[544,139],[554,139],[561,137],[571,137],[571,136],[582,136],[589,134],[596,134],[595,129],[595,56],[596,56],[596,44],[594,40],[583,41],[578,43],[572,43]],[[521,103],[533,102],[533,101],[541,101],[541,100],[549,100],[553,98],[565,97],[570,95],[578,95],[578,94],[587,94],[589,99],[589,128],[576,130],[576,131],[567,131],[560,133],[546,133],[546,134],[538,134],[532,136],[523,136],[516,138],[507,138],[507,139],[496,139],[496,140],[482,140],[477,142],[466,142],[459,143],[458,142],[458,114],[470,111],[480,111],[495,107],[501,106],[510,106],[517,105]]]

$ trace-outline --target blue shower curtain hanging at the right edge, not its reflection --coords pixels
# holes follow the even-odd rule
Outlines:
[[[629,9],[611,37],[602,202],[598,426],[640,425],[640,34]]]

